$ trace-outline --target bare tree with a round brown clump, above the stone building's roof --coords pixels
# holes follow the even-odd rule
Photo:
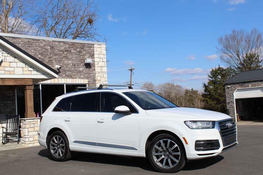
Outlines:
[[[37,35],[63,39],[96,40],[98,9],[93,0],[47,0],[34,15]]]

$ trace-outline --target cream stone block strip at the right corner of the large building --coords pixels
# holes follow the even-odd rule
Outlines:
[[[94,44],[96,87],[100,84],[108,84],[106,45]]]

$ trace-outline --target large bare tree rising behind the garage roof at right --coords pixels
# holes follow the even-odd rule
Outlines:
[[[238,72],[262,67],[263,39],[256,28],[250,33],[232,30],[231,34],[220,37],[218,43],[217,52],[227,66]]]

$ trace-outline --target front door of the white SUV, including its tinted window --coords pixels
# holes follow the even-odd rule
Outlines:
[[[125,105],[131,115],[115,114]],[[138,156],[138,110],[124,97],[113,92],[100,93],[100,111],[96,117],[98,152]]]

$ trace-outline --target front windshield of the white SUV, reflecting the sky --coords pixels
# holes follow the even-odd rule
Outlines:
[[[153,93],[144,91],[123,92],[144,110],[176,108],[177,106],[165,98]]]

